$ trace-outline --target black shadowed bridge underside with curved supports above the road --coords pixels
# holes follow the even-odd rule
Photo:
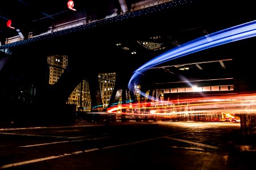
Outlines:
[[[135,15],[134,18],[115,20],[114,17],[113,22],[102,25],[95,22],[96,24],[92,23],[95,27],[76,29],[74,32],[67,30],[68,33],[63,33],[63,35],[44,36],[35,42],[14,46],[6,45],[10,53],[1,54],[2,57],[0,57],[0,62],[8,58],[5,61],[5,66],[2,69],[0,67],[0,87],[5,88],[5,91],[9,89],[11,92],[11,89],[18,84],[19,86],[26,86],[27,83],[33,84],[36,87],[36,97],[33,103],[34,107],[30,109],[30,115],[33,115],[34,111],[42,109],[44,113],[51,116],[53,113],[62,114],[70,111],[72,108],[68,110],[63,107],[65,101],[81,80],[89,79],[90,83],[93,84],[90,87],[91,94],[95,94],[92,95],[92,99],[94,99],[92,107],[95,107],[101,104],[97,96],[99,88],[96,87],[98,86],[98,73],[115,72],[119,74],[117,88],[125,91],[134,70],[159,54],[175,48],[177,44],[181,45],[197,37],[207,36],[208,33],[255,19],[254,11],[250,8],[247,9],[247,6],[232,2],[198,1],[192,5]],[[246,10],[242,10],[244,7]],[[136,11],[134,14],[137,14]],[[166,47],[164,50],[149,50],[138,43],[138,41],[150,42],[152,41],[150,37],[155,36],[162,37],[155,42],[164,44]],[[122,46],[117,46],[118,43]],[[195,78],[196,75],[197,79],[232,77],[236,79],[237,89],[241,89],[241,91],[254,90],[254,86],[251,85],[250,74],[247,74],[253,71],[252,68],[254,67],[254,64],[247,60],[253,54],[251,44],[255,44],[255,38],[232,42],[232,45],[217,46],[161,65],[179,65],[231,58],[232,63],[227,64],[228,67],[225,69],[220,64],[218,66],[210,66],[209,64],[208,69],[189,73],[176,72],[172,74],[162,68],[148,70],[141,80],[141,86],[144,85],[142,87],[144,90],[168,88],[170,84],[164,85],[163,82],[167,82],[167,80],[179,82],[180,76],[178,75],[184,75],[187,78]],[[137,54],[131,54],[133,51]],[[52,55],[67,55],[69,60],[68,68],[63,76],[56,84],[49,85],[46,78],[48,73],[46,57]],[[249,82],[249,85],[245,87],[243,81]],[[179,84],[179,86],[183,86],[183,84]],[[2,96],[5,96],[5,92],[1,92]],[[2,98],[1,100],[4,100],[2,103],[6,104],[6,111],[12,105],[17,105],[16,101],[12,99]],[[14,110],[13,114],[20,112],[20,108]]]

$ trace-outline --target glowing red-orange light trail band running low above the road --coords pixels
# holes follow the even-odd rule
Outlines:
[[[126,111],[123,112],[123,109]],[[255,111],[255,93],[130,103],[108,108],[109,114],[123,115],[129,121],[143,120],[143,118],[148,121],[188,120],[188,118],[193,121],[225,121],[224,118],[236,118],[236,115],[254,113]]]

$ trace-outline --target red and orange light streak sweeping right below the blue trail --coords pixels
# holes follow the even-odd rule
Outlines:
[[[150,107],[147,107],[150,105]],[[133,113],[123,113],[129,109]],[[147,112],[146,112],[147,110]],[[198,97],[192,99],[162,101],[152,103],[124,104],[108,109],[108,113],[126,114],[127,116],[202,116],[209,113],[244,114],[256,112],[256,94],[225,95],[213,97]]]

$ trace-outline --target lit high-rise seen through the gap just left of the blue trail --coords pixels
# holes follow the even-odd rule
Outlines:
[[[98,74],[98,82],[100,83],[101,99],[103,108],[108,107],[110,97],[115,87],[116,73],[100,73]]]

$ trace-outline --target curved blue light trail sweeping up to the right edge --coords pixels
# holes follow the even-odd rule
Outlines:
[[[196,53],[201,50],[212,48],[214,46],[227,44],[229,42],[243,40],[254,36],[256,36],[256,20],[211,33],[208,37],[203,36],[199,39],[189,41],[181,46],[177,46],[174,49],[168,50],[166,53],[163,53],[154,59],[151,59],[135,70],[128,83],[128,88],[133,90],[134,86],[139,84],[139,77],[143,75],[143,72],[150,67],[154,67],[160,63]],[[144,92],[141,92],[141,95],[146,96]]]

